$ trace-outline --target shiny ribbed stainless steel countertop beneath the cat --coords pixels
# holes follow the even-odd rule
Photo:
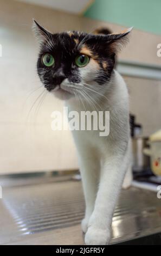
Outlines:
[[[1,245],[83,245],[85,203],[81,181],[71,175],[0,178]],[[131,187],[122,190],[111,244],[160,244],[161,199]]]

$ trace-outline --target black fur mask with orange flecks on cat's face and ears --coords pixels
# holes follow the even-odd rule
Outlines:
[[[64,32],[51,34],[38,25],[38,34],[42,35],[43,41],[37,60],[37,72],[47,90],[54,89],[65,78],[71,83],[80,83],[81,76],[75,58],[81,52],[82,47],[89,50],[91,58],[98,63],[99,69],[94,78],[99,85],[110,80],[115,64],[117,43],[127,34],[94,35],[80,32]],[[128,32],[129,33],[129,32]],[[44,53],[50,53],[55,59],[55,65],[46,67],[42,63]]]

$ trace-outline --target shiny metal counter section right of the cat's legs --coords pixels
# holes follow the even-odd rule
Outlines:
[[[161,232],[161,202],[156,193],[138,188],[123,190],[112,223],[112,242]]]

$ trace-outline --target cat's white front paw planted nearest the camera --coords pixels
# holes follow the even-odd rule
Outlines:
[[[89,227],[85,235],[86,245],[108,245],[111,238],[109,230]]]

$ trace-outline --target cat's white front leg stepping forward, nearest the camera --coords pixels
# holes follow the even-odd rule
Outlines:
[[[105,160],[100,175],[100,185],[94,211],[88,223],[86,245],[107,245],[111,239],[113,212],[124,180],[128,154],[113,155]]]

